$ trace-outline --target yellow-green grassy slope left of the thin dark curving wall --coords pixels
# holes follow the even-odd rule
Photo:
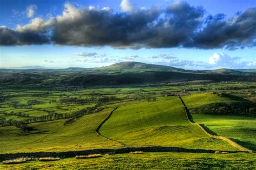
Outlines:
[[[65,125],[66,120],[30,124],[35,130],[23,133],[14,126],[0,128],[0,153],[73,151],[91,148],[116,148],[120,145],[95,133],[112,108],[84,115]]]

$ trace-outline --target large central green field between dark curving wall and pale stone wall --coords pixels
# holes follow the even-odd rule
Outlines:
[[[177,97],[119,106],[100,133],[128,146],[235,149],[224,141],[208,138],[197,126],[190,125]]]

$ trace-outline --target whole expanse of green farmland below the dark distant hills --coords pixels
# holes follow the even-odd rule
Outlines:
[[[60,160],[39,162],[33,157],[22,164],[0,167],[253,167],[253,153],[239,153],[239,148],[211,138],[190,124],[179,97],[191,121],[208,133],[256,151],[255,86],[253,82],[204,80],[104,88],[10,88],[2,84],[0,158],[5,160],[6,154],[16,158],[17,153],[31,157],[31,153],[55,152]],[[146,147],[156,149],[147,152]],[[164,147],[163,151],[158,151],[159,147]],[[110,155],[91,160],[64,158],[70,157],[66,155],[69,152],[109,154],[104,149],[125,148],[128,150],[112,154],[113,150]],[[145,152],[132,155],[130,148]]]

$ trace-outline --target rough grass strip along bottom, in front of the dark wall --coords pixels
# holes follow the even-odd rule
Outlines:
[[[144,153],[104,155],[95,159],[68,158],[53,162],[31,161],[17,165],[3,165],[0,169],[254,169],[256,155],[246,153],[203,154],[203,153]]]

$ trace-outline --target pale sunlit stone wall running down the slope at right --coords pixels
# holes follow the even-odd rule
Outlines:
[[[213,135],[213,134],[210,134],[210,133],[208,133],[208,132],[205,130],[205,128],[204,128],[203,126],[201,126],[201,125],[198,124],[198,123],[192,122],[192,121],[191,121],[191,115],[190,115],[190,113],[189,113],[189,111],[188,111],[187,106],[185,105],[183,99],[182,99],[180,96],[179,96],[179,99],[180,99],[181,104],[183,105],[183,108],[184,108],[184,110],[185,110],[185,113],[186,113],[186,117],[187,117],[188,122],[189,122],[190,124],[192,124],[192,125],[198,126],[208,137],[214,138],[214,139],[224,140],[224,141],[228,142],[228,144],[230,144],[230,145],[232,145],[233,147],[239,149],[239,151],[243,151],[243,152],[253,152],[251,149],[248,149],[248,148],[246,148],[246,147],[244,147],[244,146],[241,146],[241,145],[239,145],[237,142],[235,142],[235,141],[233,141],[233,140],[231,140],[231,139],[229,139],[229,138],[223,137],[223,136],[221,136],[221,135]]]

